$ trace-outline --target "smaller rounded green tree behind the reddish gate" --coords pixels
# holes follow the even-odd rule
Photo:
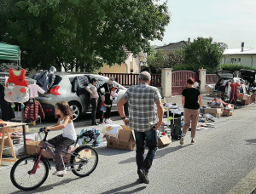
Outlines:
[[[183,48],[185,64],[201,65],[203,68],[217,68],[223,58],[225,43],[212,43],[213,38],[197,37]]]

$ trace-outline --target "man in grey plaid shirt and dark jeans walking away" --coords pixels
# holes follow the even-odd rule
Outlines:
[[[143,71],[139,75],[139,80],[140,84],[131,86],[123,95],[123,98],[119,100],[118,110],[125,125],[134,130],[137,145],[137,174],[140,182],[148,184],[148,170],[153,163],[158,146],[156,130],[160,128],[164,110],[160,102],[159,89],[149,86],[150,74]],[[127,101],[130,106],[129,120],[125,117],[123,108]],[[146,158],[144,158],[145,140],[148,145]]]

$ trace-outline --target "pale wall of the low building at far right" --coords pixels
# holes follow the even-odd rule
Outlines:
[[[234,59],[233,62],[231,59]],[[235,60],[236,59],[236,60]],[[241,60],[241,61],[239,61]],[[221,60],[222,64],[243,64],[245,66],[253,66],[256,68],[256,55],[224,55]]]

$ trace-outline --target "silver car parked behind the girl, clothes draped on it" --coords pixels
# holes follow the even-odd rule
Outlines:
[[[69,104],[72,113],[73,121],[77,121],[82,113],[90,113],[91,107],[85,108],[85,94],[80,94],[79,96],[72,91],[73,79],[78,76],[84,76],[85,73],[73,73],[73,72],[55,72],[55,82],[48,92],[45,94],[39,94],[36,98],[40,102],[41,106],[44,109],[44,114],[46,116],[55,115],[55,104],[59,101],[67,101]],[[98,84],[102,85],[103,83],[108,82],[108,77],[103,77],[95,74],[86,74],[94,76],[98,80]],[[117,110],[117,103],[125,94],[127,88],[123,87],[119,83],[113,82],[113,86],[119,87],[119,96],[117,100],[113,100],[112,110]],[[104,93],[104,88],[101,89]]]

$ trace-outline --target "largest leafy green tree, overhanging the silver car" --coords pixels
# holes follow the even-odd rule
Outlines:
[[[0,42],[20,46],[29,70],[61,65],[94,71],[125,61],[125,49],[148,52],[170,21],[156,0],[0,1]]]

